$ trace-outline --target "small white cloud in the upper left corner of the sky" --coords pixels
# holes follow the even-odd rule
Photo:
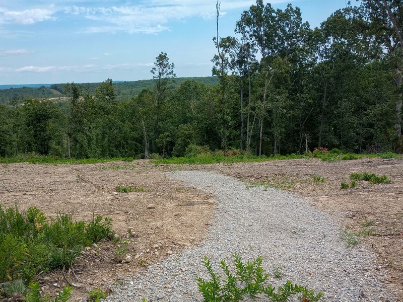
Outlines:
[[[6,9],[0,10],[0,24],[17,23],[17,24],[34,24],[41,21],[53,20],[53,10],[48,9],[31,9],[25,11],[10,11]]]

